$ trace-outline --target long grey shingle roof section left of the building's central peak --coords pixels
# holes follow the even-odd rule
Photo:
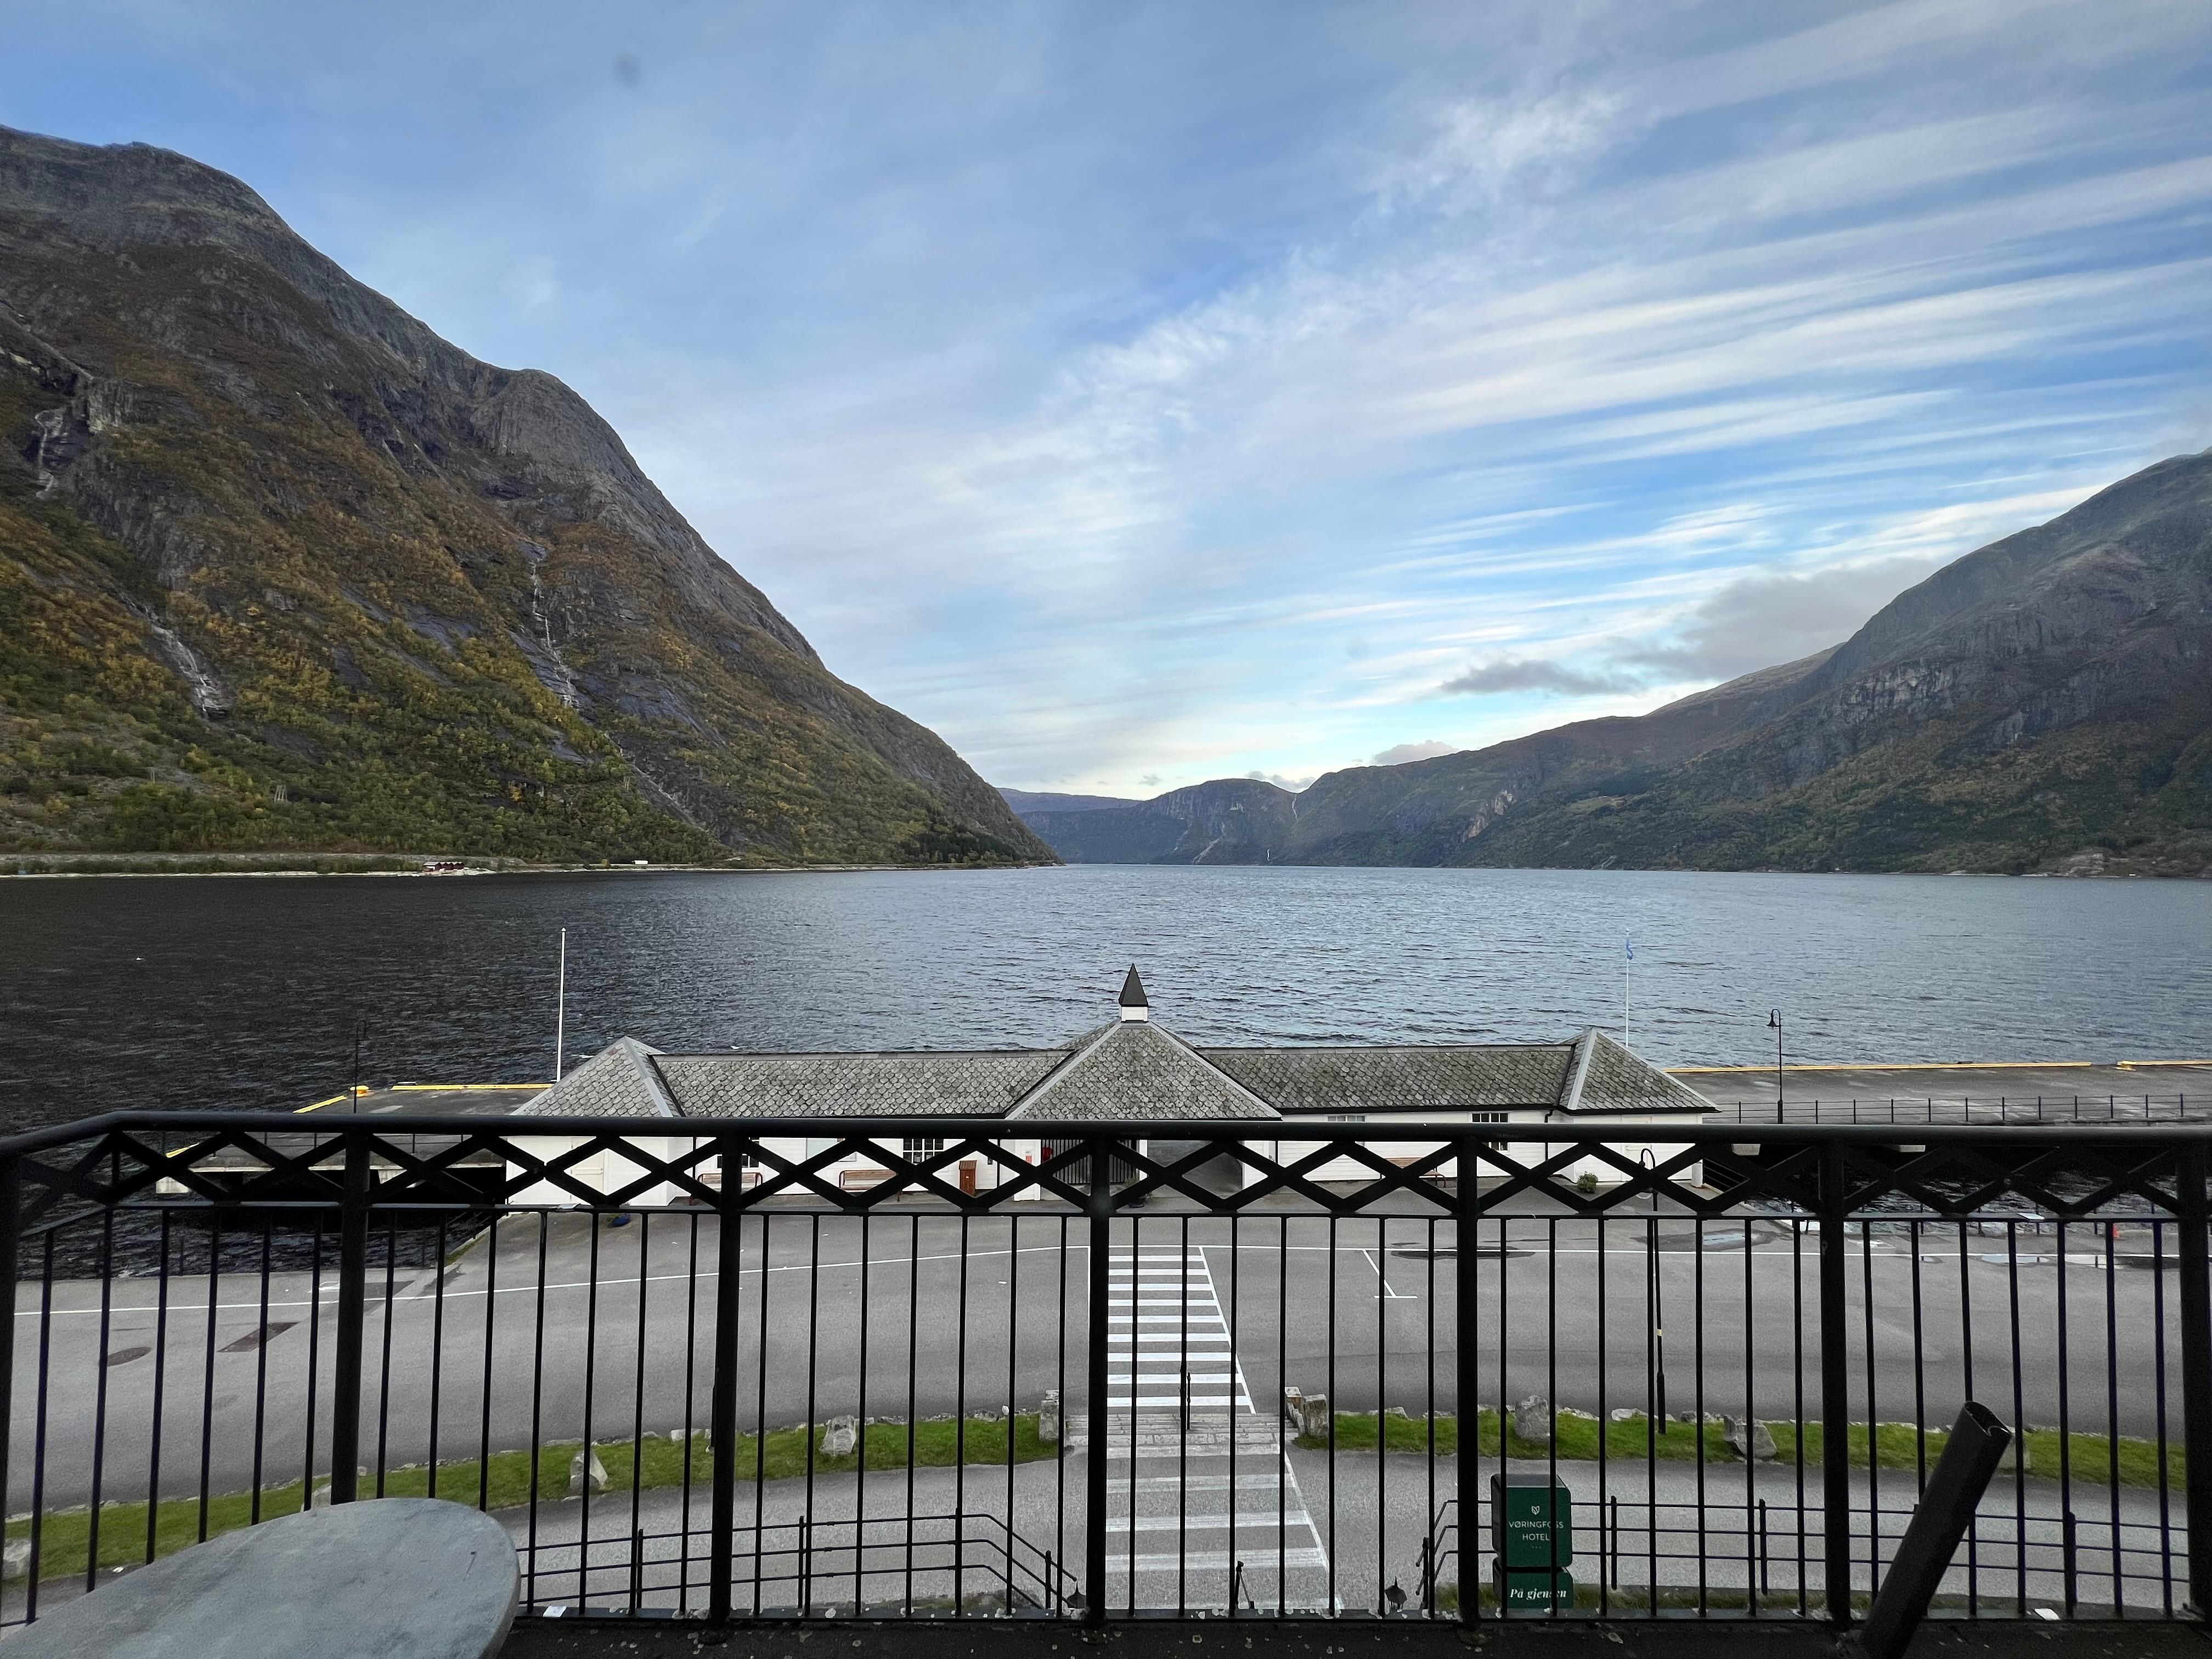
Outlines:
[[[661,1055],[686,1117],[1004,1117],[1066,1048]]]

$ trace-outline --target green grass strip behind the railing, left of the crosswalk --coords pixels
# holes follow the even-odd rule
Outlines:
[[[770,1429],[765,1436],[765,1447],[761,1436],[739,1436],[737,1442],[737,1478],[739,1480],[790,1480],[792,1475],[803,1475],[807,1471],[807,1440],[805,1429]],[[458,1462],[438,1464],[436,1493],[431,1491],[431,1471],[425,1464],[411,1469],[387,1469],[385,1471],[385,1498],[451,1498],[462,1504],[476,1504],[478,1493],[484,1493],[484,1509],[520,1509],[531,1502],[533,1495],[533,1464],[535,1464],[535,1498],[542,1504],[562,1502],[568,1498],[568,1462],[580,1451],[580,1440],[557,1440],[538,1451],[533,1460],[526,1451],[493,1451],[489,1480],[482,1462],[478,1458],[462,1458]],[[630,1473],[635,1467],[633,1447],[628,1440],[615,1444],[599,1444],[599,1467],[606,1469],[606,1493],[599,1502],[617,1502],[630,1491]],[[867,1467],[869,1469],[905,1469],[907,1467],[907,1425],[902,1422],[872,1422],[867,1425]],[[1040,1462],[1057,1455],[1060,1447],[1037,1440],[1037,1418],[1018,1416],[1013,1420],[1013,1462]],[[681,1486],[684,1484],[684,1453],[686,1444],[681,1440],[653,1440],[644,1442],[644,1464],[637,1467],[637,1486]],[[1002,1418],[969,1418],[960,1422],[922,1422],[914,1433],[914,1462],[922,1469],[949,1469],[956,1462],[969,1464],[1004,1464],[1006,1462],[1006,1422]],[[860,1455],[852,1453],[845,1458],[825,1458],[821,1449],[814,1451],[814,1473],[852,1473],[860,1467]],[[714,1453],[706,1444],[703,1433],[690,1438],[690,1480],[695,1486],[706,1484],[714,1478]],[[316,1480],[321,1486],[323,1480]],[[369,1498],[376,1493],[374,1475],[361,1482],[361,1495]],[[301,1504],[301,1482],[292,1480],[283,1486],[261,1489],[261,1520],[274,1520],[279,1515],[299,1513]],[[239,1526],[250,1526],[254,1520],[254,1498],[252,1493],[221,1493],[208,1498],[208,1537],[217,1533],[230,1533]],[[166,1498],[157,1506],[153,1517],[155,1526],[155,1555],[175,1555],[199,1542],[199,1500],[197,1498]],[[86,1551],[93,1533],[93,1515],[88,1509],[62,1509],[51,1511],[40,1528],[38,1546],[38,1577],[40,1579],[66,1579],[82,1577],[86,1564]],[[15,1520],[7,1526],[9,1537],[29,1537],[31,1522]],[[142,1566],[146,1562],[146,1504],[102,1504],[100,1506],[100,1566]]]

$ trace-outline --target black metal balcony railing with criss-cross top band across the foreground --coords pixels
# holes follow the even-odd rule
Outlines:
[[[1964,1400],[1940,1610],[2212,1606],[2212,1130],[1011,1128],[18,1137],[0,1624],[385,1493],[542,1613],[1849,1621]]]

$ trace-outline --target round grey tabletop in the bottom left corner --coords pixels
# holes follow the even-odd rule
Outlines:
[[[489,1659],[515,1619],[489,1515],[378,1498],[241,1526],[42,1613],[7,1659]]]

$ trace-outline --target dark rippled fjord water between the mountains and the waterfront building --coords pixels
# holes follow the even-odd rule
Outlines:
[[[2212,1053],[2212,885],[1533,869],[0,883],[0,1124],[522,1082],[661,1048],[1060,1042],[1128,962],[1199,1042],[1619,1029],[1668,1064]]]

